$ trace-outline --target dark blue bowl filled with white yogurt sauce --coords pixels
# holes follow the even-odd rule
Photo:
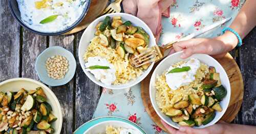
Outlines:
[[[39,35],[60,35],[74,29],[86,16],[91,0],[8,0],[15,20]]]

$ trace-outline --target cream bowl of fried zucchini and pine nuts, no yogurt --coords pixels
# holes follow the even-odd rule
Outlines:
[[[60,133],[62,114],[54,93],[29,78],[0,83],[0,131],[10,133]]]

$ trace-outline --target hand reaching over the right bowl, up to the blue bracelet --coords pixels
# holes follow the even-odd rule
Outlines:
[[[215,58],[221,58],[224,57],[228,51],[236,47],[237,44],[237,37],[227,31],[222,36],[213,39],[194,38],[177,42],[174,44],[174,50],[183,50],[183,54],[181,55],[183,59],[190,57],[194,53],[205,53]]]

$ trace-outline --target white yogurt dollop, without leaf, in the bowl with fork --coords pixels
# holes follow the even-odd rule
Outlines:
[[[88,62],[85,64],[86,68],[95,65],[110,67],[110,69],[86,69],[87,71],[90,71],[97,80],[101,81],[106,85],[111,85],[112,82],[116,80],[115,66],[109,63],[105,58],[89,57]]]

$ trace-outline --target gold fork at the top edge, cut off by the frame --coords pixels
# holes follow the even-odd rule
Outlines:
[[[109,13],[120,13],[121,12],[121,4],[122,0],[116,0],[114,3],[110,4],[106,9],[102,12],[101,15],[109,14]]]

